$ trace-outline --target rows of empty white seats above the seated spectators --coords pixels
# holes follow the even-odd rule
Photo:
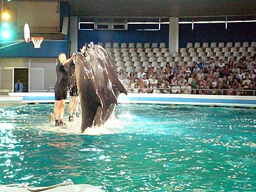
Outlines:
[[[243,58],[248,59],[250,56],[256,54],[256,42],[251,42],[249,46],[248,42],[243,42],[242,46],[240,42],[226,43],[187,43],[186,48],[180,48],[179,52],[171,54],[166,48],[166,43],[152,43],[151,46],[149,43],[98,43],[105,47],[106,51],[111,55],[115,61],[115,66],[117,71],[121,69],[124,72],[129,73],[130,71],[135,71],[138,73],[141,71],[142,67],[146,68],[148,65],[154,67],[154,72],[157,67],[166,67],[167,62],[170,63],[171,67],[175,66],[175,62],[179,61],[180,66],[183,67],[185,62],[188,62],[188,66],[192,67],[195,62],[204,59],[208,61],[210,58],[213,58],[214,61],[219,61],[222,59],[225,63],[229,61],[230,58],[233,58],[235,62],[238,62],[239,59]],[[233,46],[234,45],[234,46]]]

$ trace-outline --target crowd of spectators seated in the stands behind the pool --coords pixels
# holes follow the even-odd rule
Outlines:
[[[222,59],[214,62],[205,62],[201,59],[188,67],[185,62],[181,67],[175,62],[175,67],[154,68],[149,64],[146,73],[142,68],[138,74],[131,71],[124,74],[123,70],[118,72],[118,78],[122,81],[129,81],[132,85],[130,90],[133,93],[183,93],[196,95],[256,95],[256,64],[255,58],[247,61],[241,58],[238,63],[230,58],[227,63]],[[256,91],[255,91],[256,92]]]

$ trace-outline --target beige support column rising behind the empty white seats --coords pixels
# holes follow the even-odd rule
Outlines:
[[[179,17],[170,17],[169,52],[179,52]]]

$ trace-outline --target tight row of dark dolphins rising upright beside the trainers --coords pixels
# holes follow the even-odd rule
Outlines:
[[[83,133],[88,127],[104,124],[114,111],[118,95],[127,92],[118,80],[114,62],[102,46],[90,43],[86,56],[77,53],[75,59]]]

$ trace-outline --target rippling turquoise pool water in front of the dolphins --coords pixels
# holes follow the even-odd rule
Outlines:
[[[113,134],[90,136],[43,129],[53,107],[0,107],[0,184],[256,191],[255,109],[118,105]]]

